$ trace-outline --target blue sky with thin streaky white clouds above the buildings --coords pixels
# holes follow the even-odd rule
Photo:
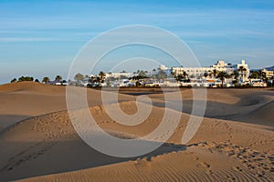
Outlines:
[[[84,45],[123,25],[152,25],[177,35],[201,66],[219,59],[273,66],[273,10],[272,0],[0,0],[0,84],[19,76],[66,78]],[[168,56],[156,55],[159,63],[174,66]],[[110,71],[104,64],[94,71],[104,68]]]

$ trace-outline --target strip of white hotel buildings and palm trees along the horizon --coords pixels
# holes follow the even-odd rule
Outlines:
[[[11,82],[35,81],[32,76],[14,78]],[[192,87],[245,87],[273,86],[274,66],[262,69],[249,69],[245,60],[235,65],[219,60],[212,66],[205,67],[167,67],[158,66],[153,70],[136,70],[128,73],[105,73],[83,75],[78,73],[74,80],[63,80],[56,76],[55,80],[44,77],[44,84],[55,86],[86,86],[86,87],[120,87],[120,86],[192,86]]]

